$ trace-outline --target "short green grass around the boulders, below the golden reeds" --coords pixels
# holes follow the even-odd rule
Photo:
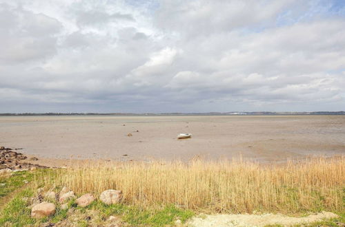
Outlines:
[[[68,218],[68,210],[61,210],[60,205],[57,204],[55,215],[43,219],[34,219],[30,217],[30,208],[27,199],[34,195],[34,190],[25,189],[15,195],[15,197],[1,210],[0,226],[11,224],[12,226],[34,225],[44,222],[58,223]],[[168,205],[156,210],[142,210],[134,206],[125,204],[106,205],[100,201],[95,201],[86,208],[77,207],[75,199],[68,202],[68,208],[75,208],[77,213],[87,213],[88,210],[97,210],[99,213],[99,224],[106,221],[110,215],[116,215],[123,221],[126,221],[132,226],[147,225],[147,226],[166,226],[173,225],[177,219],[184,223],[188,218],[192,217],[194,213],[191,210],[183,210]],[[88,226],[88,221],[79,219],[78,226]]]

